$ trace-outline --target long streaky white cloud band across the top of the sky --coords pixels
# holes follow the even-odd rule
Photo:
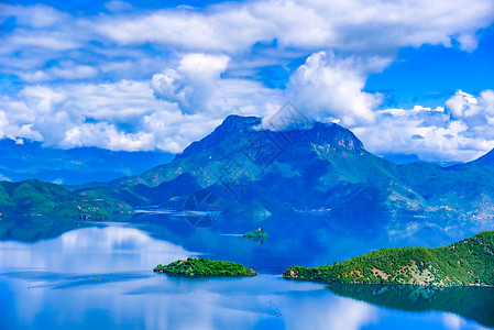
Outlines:
[[[90,50],[101,56],[94,58],[96,66],[108,67],[134,61],[135,47],[151,45],[141,58],[158,61],[156,51],[172,50],[221,52],[240,62],[256,44],[273,42],[278,56],[285,58],[321,50],[364,59],[375,55],[394,58],[404,46],[450,46],[452,40],[473,51],[476,31],[494,20],[490,0],[472,0],[469,6],[463,0],[438,0],[433,6],[426,0],[270,0],[226,2],[204,10],[134,9],[132,14],[122,1],[106,7],[110,13],[78,16],[46,6],[0,4],[0,21],[15,18],[15,29],[0,45],[0,59],[6,59],[1,54],[22,56],[23,63],[32,63],[30,72],[37,72],[61,55],[84,61]],[[2,62],[3,72],[19,65]]]

